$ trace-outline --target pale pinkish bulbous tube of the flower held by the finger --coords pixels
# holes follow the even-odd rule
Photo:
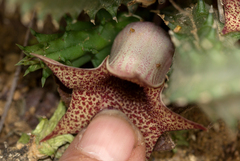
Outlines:
[[[174,46],[162,28],[135,22],[115,38],[107,69],[119,78],[158,87],[165,80],[173,53]]]

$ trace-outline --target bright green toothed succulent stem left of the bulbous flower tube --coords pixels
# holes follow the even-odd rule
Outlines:
[[[80,67],[91,61],[97,67],[110,53],[111,45],[118,32],[127,24],[139,21],[138,18],[121,13],[116,23],[111,20],[111,15],[103,10],[97,14],[97,17],[100,22],[97,22],[96,26],[91,22],[74,22],[70,17],[66,17],[68,23],[66,31],[59,34],[41,34],[31,30],[39,43],[25,47],[18,45],[26,53],[18,63],[18,65],[29,66],[25,75],[43,69],[42,85],[44,85],[52,73],[41,61],[33,60],[29,53],[45,55],[74,67]]]

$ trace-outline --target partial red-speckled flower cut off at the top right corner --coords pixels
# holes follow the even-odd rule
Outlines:
[[[240,31],[240,0],[223,0],[225,25],[223,34]]]

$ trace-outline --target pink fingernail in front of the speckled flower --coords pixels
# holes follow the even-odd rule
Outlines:
[[[116,115],[102,114],[89,124],[77,148],[98,160],[123,161],[130,157],[136,141],[128,121]]]

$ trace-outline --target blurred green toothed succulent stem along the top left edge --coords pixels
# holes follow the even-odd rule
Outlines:
[[[95,16],[100,9],[107,10],[111,14],[112,19],[118,21],[117,10],[121,4],[126,5],[131,13],[138,6],[138,3],[148,6],[154,2],[155,0],[7,0],[6,10],[8,13],[14,12],[19,5],[23,23],[30,21],[31,13],[35,10],[38,26],[42,28],[47,15],[52,16],[52,22],[56,27],[59,27],[58,21],[64,14],[69,13],[76,19],[82,11],[89,15],[92,23],[95,23]]]

